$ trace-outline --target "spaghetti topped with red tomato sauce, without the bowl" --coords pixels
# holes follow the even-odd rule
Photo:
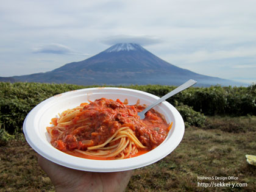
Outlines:
[[[156,148],[171,124],[153,109],[141,120],[137,113],[145,106],[126,104],[101,98],[65,110],[46,128],[52,146],[67,154],[100,160],[135,157]]]

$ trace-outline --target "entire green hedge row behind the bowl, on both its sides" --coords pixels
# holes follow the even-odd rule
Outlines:
[[[7,133],[20,133],[27,113],[44,99],[66,91],[90,87],[68,84],[0,82],[0,129]],[[176,87],[130,85],[126,88],[163,96]],[[255,115],[255,98],[255,85],[250,87],[216,86],[210,88],[191,87],[167,101],[179,110],[186,125],[202,126],[205,120],[204,115]],[[3,131],[1,133],[4,134]]]

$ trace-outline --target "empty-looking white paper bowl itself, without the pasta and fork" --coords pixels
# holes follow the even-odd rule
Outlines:
[[[38,104],[27,115],[23,131],[30,146],[44,158],[68,168],[93,172],[115,172],[140,168],[157,162],[170,154],[182,140],[185,126],[180,113],[168,102],[162,102],[155,108],[165,116],[167,123],[172,124],[168,137],[157,148],[146,154],[126,158],[123,160],[91,160],[74,157],[55,149],[50,143],[50,137],[46,127],[50,126],[51,118],[57,116],[68,108],[74,108],[82,102],[94,101],[95,99],[128,99],[129,104],[152,104],[158,99],[157,96],[143,91],[127,88],[85,88],[82,90],[69,91],[58,94]]]

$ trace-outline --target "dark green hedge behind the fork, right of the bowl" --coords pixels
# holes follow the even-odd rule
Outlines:
[[[176,87],[150,85],[133,86],[132,88],[163,96]],[[256,115],[256,85],[249,87],[191,87],[166,101],[174,106],[188,105],[195,111],[210,116]]]

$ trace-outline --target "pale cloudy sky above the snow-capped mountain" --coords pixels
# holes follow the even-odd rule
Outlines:
[[[0,76],[131,42],[196,73],[256,83],[255,18],[255,0],[1,1]]]

